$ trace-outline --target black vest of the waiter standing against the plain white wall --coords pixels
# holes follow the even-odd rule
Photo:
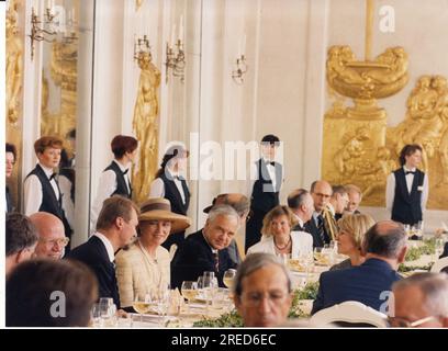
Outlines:
[[[272,180],[269,177],[268,168],[262,159],[256,162],[258,178],[254,183],[250,204],[251,208],[268,213],[276,207],[279,201],[279,192],[283,180],[283,168],[280,163],[275,165],[276,169],[276,189],[272,186]]]

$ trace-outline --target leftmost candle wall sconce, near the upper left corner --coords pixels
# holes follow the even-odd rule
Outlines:
[[[43,21],[40,20],[34,8],[31,10],[31,34],[29,35],[31,39],[31,59],[34,58],[34,42],[53,43],[56,41],[56,36],[59,33],[61,33],[61,43],[64,44],[71,44],[78,39],[75,31],[67,34],[65,12],[63,13],[63,23],[59,23],[59,20],[57,19],[59,12],[54,12],[54,0],[49,0],[48,7],[44,12]],[[64,8],[61,9],[65,11]],[[68,25],[72,29],[75,27],[75,10],[69,12]]]

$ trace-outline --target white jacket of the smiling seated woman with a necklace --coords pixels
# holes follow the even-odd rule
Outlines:
[[[306,231],[291,231],[292,249],[291,258],[298,259],[300,256],[313,253],[313,237]],[[247,250],[247,254],[255,252],[265,252],[277,254],[273,236],[261,237],[261,241],[251,246]]]

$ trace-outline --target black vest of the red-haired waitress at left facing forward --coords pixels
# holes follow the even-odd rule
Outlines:
[[[38,211],[48,212],[58,217],[60,220],[63,220],[65,235],[67,237],[70,237],[71,228],[70,225],[68,224],[68,220],[63,210],[63,194],[60,193],[60,190],[59,199],[57,199],[48,177],[45,174],[44,170],[40,165],[36,165],[36,167],[26,176],[26,178],[29,178],[31,174],[36,176],[42,185],[42,203],[41,207],[38,207]],[[59,189],[59,184],[57,183],[57,181],[56,185],[57,189]]]

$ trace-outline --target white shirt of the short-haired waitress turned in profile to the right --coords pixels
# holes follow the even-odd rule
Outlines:
[[[113,161],[120,167],[120,170],[122,172],[124,172],[131,166],[131,165],[123,166],[116,160],[113,160]],[[126,180],[127,191],[131,191],[130,171],[126,174],[124,174],[124,179]],[[113,170],[108,169],[107,171],[101,173],[100,180],[98,182],[97,196],[94,197],[92,210],[90,212],[91,230],[94,230],[97,226],[97,219],[101,212],[104,200],[110,197],[113,194],[113,192],[116,190],[116,186],[117,186],[116,174]]]

